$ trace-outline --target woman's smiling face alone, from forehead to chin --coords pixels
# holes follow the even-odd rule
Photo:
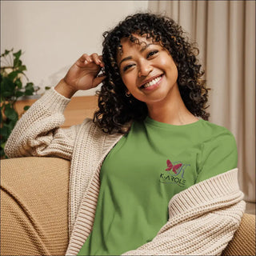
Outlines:
[[[168,98],[171,91],[178,89],[178,70],[168,50],[159,42],[152,42],[146,36],[139,36],[140,44],[122,38],[122,53],[118,52],[117,62],[122,82],[139,101],[150,104]]]

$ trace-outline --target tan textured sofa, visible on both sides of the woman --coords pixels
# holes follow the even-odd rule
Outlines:
[[[63,255],[68,243],[70,162],[1,161],[1,255]],[[255,215],[244,214],[223,255],[255,255]]]

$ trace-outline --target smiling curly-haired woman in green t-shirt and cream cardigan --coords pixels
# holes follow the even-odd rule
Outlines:
[[[197,49],[149,13],[103,35],[102,55],[82,54],[30,107],[6,154],[71,161],[67,255],[221,254],[245,202],[234,136],[207,121]],[[101,82],[94,118],[62,129],[74,93]]]

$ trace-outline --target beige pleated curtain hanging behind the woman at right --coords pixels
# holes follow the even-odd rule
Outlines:
[[[240,187],[255,202],[255,2],[149,1],[149,10],[173,18],[198,42],[210,122],[234,134]]]

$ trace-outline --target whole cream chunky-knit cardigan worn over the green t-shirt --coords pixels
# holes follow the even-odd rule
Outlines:
[[[76,255],[94,224],[102,162],[122,135],[104,134],[88,118],[81,125],[58,128],[69,102],[54,89],[46,92],[18,121],[5,151],[9,158],[32,155],[71,160],[66,255]],[[238,170],[230,170],[174,195],[166,225],[151,242],[124,255],[221,254],[245,210],[237,177]]]

